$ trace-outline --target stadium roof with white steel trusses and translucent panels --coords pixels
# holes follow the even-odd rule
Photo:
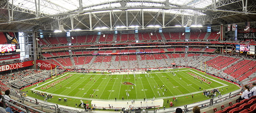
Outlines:
[[[7,2],[8,1],[8,2]],[[252,22],[255,0],[4,0],[1,31],[114,30]]]

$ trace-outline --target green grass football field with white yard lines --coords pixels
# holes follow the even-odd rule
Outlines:
[[[176,76],[173,75],[173,72]],[[163,72],[163,70],[152,71],[152,73],[140,72],[140,74],[135,75],[133,72],[130,73],[132,74],[65,73],[63,76],[55,77],[52,80],[40,83],[37,87],[32,86],[23,91],[33,88],[33,90],[52,94],[54,98],[48,101],[69,106],[79,103],[80,99],[85,102],[88,101],[88,103],[92,99],[116,98],[121,101],[122,98],[130,100],[152,99],[154,97],[169,101],[172,100],[173,96],[178,97],[178,101],[174,102],[178,106],[209,99],[202,95],[204,89],[224,89],[221,91],[222,94],[239,89],[239,87],[229,82],[209,75],[205,76],[203,72],[190,70],[189,68],[166,70],[166,72]],[[28,96],[43,99],[36,94],[32,94],[32,91],[28,92]],[[90,94],[93,97],[90,97]],[[194,95],[193,99],[191,98],[192,94]],[[58,98],[68,98],[69,102],[58,101]],[[166,104],[164,106],[168,106],[167,102],[164,103]]]

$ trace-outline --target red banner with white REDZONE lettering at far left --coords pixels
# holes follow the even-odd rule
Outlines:
[[[26,62],[20,62],[20,63],[12,63],[12,64],[6,64],[0,66],[0,72],[18,69],[18,68],[24,68],[28,66],[33,66],[33,61],[26,61]]]

